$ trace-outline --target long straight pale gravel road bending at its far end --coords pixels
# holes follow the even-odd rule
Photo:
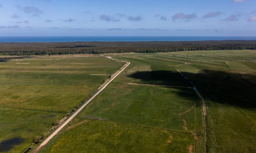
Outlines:
[[[71,115],[57,130],[55,130],[47,139],[45,139],[44,142],[41,143],[33,153],[37,153],[45,144],[47,144],[61,129],[63,129],[65,125],[67,125],[81,110],[83,110],[83,108],[88,105],[89,102],[91,102],[103,89],[108,86],[110,82],[112,82],[120,73],[124,71],[124,69],[126,69],[131,64],[130,62],[126,61],[122,62],[125,62],[126,64],[121,68],[121,70],[114,77],[112,77],[97,93],[95,93],[82,107],[80,107],[73,115]]]

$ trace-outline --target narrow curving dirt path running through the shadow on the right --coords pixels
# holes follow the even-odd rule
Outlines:
[[[186,78],[186,79],[194,86],[193,89],[196,91],[197,95],[199,96],[199,98],[200,98],[201,101],[202,101],[202,105],[203,105],[203,114],[204,114],[204,121],[205,121],[205,132],[206,132],[206,137],[205,137],[205,139],[206,139],[205,150],[206,150],[206,152],[208,153],[208,151],[209,151],[209,150],[208,150],[208,139],[207,139],[207,137],[208,137],[208,124],[207,124],[207,119],[206,119],[206,106],[205,106],[204,98],[203,98],[202,95],[198,92],[198,90],[197,90],[195,84],[194,84],[190,79],[188,79],[186,76],[184,76],[184,75],[176,68],[176,66],[173,66],[173,67],[174,67],[174,69],[176,69],[176,71],[178,71],[184,78]],[[196,133],[195,133],[195,135],[196,135]]]

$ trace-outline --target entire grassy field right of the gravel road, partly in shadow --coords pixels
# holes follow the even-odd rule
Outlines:
[[[256,51],[106,55],[131,64],[41,152],[256,151]]]

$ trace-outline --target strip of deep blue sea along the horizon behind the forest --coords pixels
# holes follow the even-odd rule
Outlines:
[[[256,40],[256,36],[1,36],[0,42],[140,42],[140,41],[206,41]]]

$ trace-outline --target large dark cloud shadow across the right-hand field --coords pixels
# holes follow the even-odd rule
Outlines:
[[[256,107],[256,84],[248,80],[249,78],[255,79],[255,75],[248,75],[245,79],[233,73],[212,70],[202,70],[201,73],[182,72],[182,74],[195,84],[205,100],[243,108]],[[175,83],[176,79],[177,81],[183,79],[193,87],[180,73],[173,71],[142,71],[128,75],[128,77],[141,79],[143,82],[148,81],[151,84],[153,81],[161,82],[161,85],[170,85],[171,82]],[[185,96],[182,89],[177,94]]]

